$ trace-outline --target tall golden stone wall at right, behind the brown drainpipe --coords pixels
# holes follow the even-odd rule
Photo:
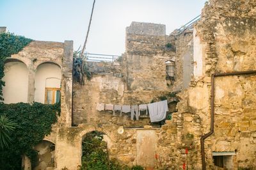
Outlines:
[[[216,77],[215,86],[211,86],[212,73],[256,70],[255,7],[255,1],[209,1],[195,27],[194,37],[200,40],[197,44],[194,41],[194,46],[200,46],[197,52],[202,52],[202,66],[199,69],[195,65],[199,70],[191,88],[180,93],[182,102],[177,114],[195,114],[200,118],[198,134],[207,134],[211,125],[211,89],[215,88],[214,134],[204,144],[207,169],[214,168],[212,151],[236,152],[234,168],[256,166],[255,75]],[[196,56],[194,59],[198,61]],[[188,111],[182,111],[184,107]],[[200,146],[198,140],[195,143]],[[200,154],[194,157],[200,167]]]

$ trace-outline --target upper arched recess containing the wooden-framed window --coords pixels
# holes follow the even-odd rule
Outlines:
[[[42,63],[36,68],[35,102],[54,104],[60,101],[61,68],[55,63]]]

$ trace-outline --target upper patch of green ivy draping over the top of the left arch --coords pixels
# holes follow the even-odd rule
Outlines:
[[[3,100],[4,61],[12,54],[20,52],[31,41],[33,40],[13,33],[0,33],[0,101]]]

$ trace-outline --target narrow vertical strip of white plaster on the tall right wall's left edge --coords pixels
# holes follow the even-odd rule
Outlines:
[[[204,45],[200,42],[200,37],[196,35],[196,29],[193,29],[193,58],[194,58],[194,76],[201,77],[203,75],[203,55]]]

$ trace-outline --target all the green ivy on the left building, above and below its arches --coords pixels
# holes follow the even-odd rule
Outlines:
[[[22,155],[31,159],[33,167],[37,155],[34,147],[51,133],[51,125],[56,123],[60,114],[60,103],[3,104],[4,62],[31,41],[13,33],[0,33],[0,116],[15,123],[15,130],[8,132],[10,144],[0,148],[0,169],[20,169]]]

